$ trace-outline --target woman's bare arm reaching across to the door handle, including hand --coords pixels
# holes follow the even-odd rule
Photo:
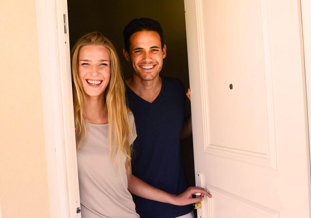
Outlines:
[[[132,175],[132,169],[127,168],[128,177],[128,191],[136,196],[150,199],[153,201],[160,201],[164,203],[174,204],[174,205],[188,205],[193,204],[197,201],[202,201],[204,199],[204,194],[208,197],[212,197],[204,188],[201,187],[189,187],[185,192],[180,195],[174,195],[164,192],[156,187],[153,187],[136,176]],[[192,195],[195,193],[201,193],[201,196],[193,198]]]

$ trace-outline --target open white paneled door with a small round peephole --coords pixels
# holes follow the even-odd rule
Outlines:
[[[300,1],[185,0],[198,217],[307,218]]]

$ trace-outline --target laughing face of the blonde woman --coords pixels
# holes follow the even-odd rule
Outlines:
[[[110,80],[108,50],[102,45],[82,47],[78,54],[78,72],[86,97],[103,97]]]

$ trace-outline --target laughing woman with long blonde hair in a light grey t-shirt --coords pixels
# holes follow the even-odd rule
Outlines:
[[[199,187],[176,196],[132,175],[134,117],[126,107],[117,53],[101,33],[88,33],[74,45],[72,74],[82,217],[139,217],[130,193],[175,205],[210,197]],[[202,194],[194,199],[196,192]]]

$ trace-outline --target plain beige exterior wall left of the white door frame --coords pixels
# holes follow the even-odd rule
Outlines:
[[[2,218],[50,217],[35,15],[35,0],[0,1]]]

